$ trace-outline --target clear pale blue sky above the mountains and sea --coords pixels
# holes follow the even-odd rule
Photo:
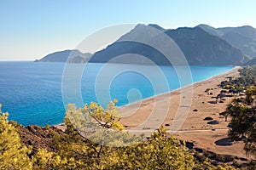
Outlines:
[[[40,59],[121,24],[256,28],[255,8],[255,0],[0,0],[0,60]]]

